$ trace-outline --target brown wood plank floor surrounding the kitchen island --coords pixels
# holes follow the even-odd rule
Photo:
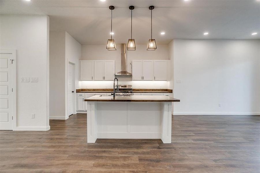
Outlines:
[[[0,131],[1,172],[260,172],[260,116],[173,116],[172,143],[98,139],[86,114],[49,131]]]

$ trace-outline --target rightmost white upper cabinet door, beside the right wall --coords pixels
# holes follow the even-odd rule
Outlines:
[[[154,80],[167,80],[167,60],[154,60]]]

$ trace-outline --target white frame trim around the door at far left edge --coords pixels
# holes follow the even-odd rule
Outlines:
[[[12,59],[9,61],[12,61],[11,66],[11,73],[12,73],[12,92],[11,92],[11,98],[12,98],[12,129],[16,130],[16,121],[17,121],[17,59],[16,59],[16,50],[8,50],[8,49],[1,49],[0,54],[12,54]]]

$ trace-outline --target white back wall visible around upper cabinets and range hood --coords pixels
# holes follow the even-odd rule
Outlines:
[[[135,59],[169,59],[168,45],[159,44],[155,51],[147,51],[147,45],[136,45],[136,50],[128,50],[127,56],[127,71],[131,73],[132,60]],[[115,72],[121,71],[121,44],[117,45],[117,50],[108,51],[106,45],[82,45],[81,60],[115,60]],[[168,88],[167,81],[132,81],[131,76],[117,76],[119,84],[132,84],[133,88],[150,88],[158,89]],[[80,81],[79,88],[112,88],[112,81]]]

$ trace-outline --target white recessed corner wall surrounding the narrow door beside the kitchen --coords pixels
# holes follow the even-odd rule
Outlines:
[[[78,63],[81,44],[66,31],[50,32],[50,119],[68,119],[68,62],[75,64],[75,87],[78,88]],[[76,92],[74,93],[76,113]]]

